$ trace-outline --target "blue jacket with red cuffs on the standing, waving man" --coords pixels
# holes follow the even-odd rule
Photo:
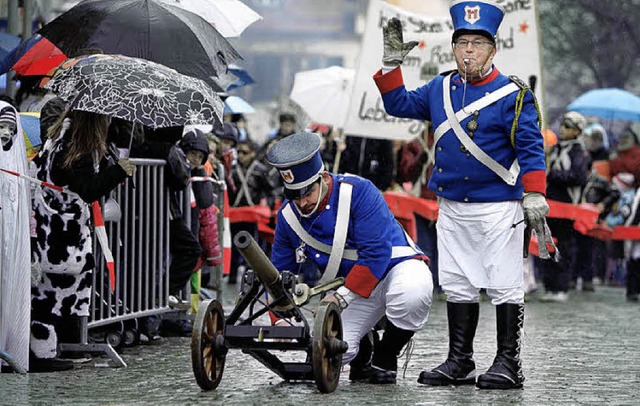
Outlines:
[[[443,108],[443,80],[440,75],[426,85],[405,89],[399,68],[387,74],[374,75],[387,113],[402,118],[429,120],[433,128],[447,120]],[[511,79],[494,67],[493,71],[466,87],[465,106],[507,84]],[[451,78],[451,101],[455,112],[462,108],[464,86],[458,73]],[[533,96],[527,92],[518,118],[515,136],[511,126],[515,119],[516,96],[511,93],[478,111],[478,128],[473,142],[505,168],[518,159],[520,175],[515,185],[505,183],[491,169],[484,166],[449,129],[435,146],[436,164],[429,180],[429,188],[438,196],[459,202],[495,202],[522,199],[524,192],[545,193],[545,159],[543,137],[538,126],[538,112]],[[473,116],[461,122],[466,130]],[[469,131],[467,131],[469,132]]]

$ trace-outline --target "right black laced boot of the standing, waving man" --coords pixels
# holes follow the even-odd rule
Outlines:
[[[478,377],[480,389],[522,388],[524,375],[520,361],[524,305],[505,303],[496,306],[498,352],[489,370]]]

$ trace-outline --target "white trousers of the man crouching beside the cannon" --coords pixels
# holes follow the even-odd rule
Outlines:
[[[420,330],[429,317],[432,296],[431,271],[424,261],[412,259],[394,266],[371,296],[356,297],[342,312],[343,340],[349,344],[342,364],[351,362],[362,337],[384,315],[398,328]]]

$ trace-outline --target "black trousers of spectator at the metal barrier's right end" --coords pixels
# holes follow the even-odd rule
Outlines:
[[[202,247],[189,226],[182,219],[173,219],[169,223],[169,294],[175,295],[183,289],[202,255]]]

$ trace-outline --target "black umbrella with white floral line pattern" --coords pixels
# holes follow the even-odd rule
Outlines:
[[[139,58],[97,54],[69,59],[45,88],[72,110],[151,128],[222,122],[224,104],[204,81]]]

